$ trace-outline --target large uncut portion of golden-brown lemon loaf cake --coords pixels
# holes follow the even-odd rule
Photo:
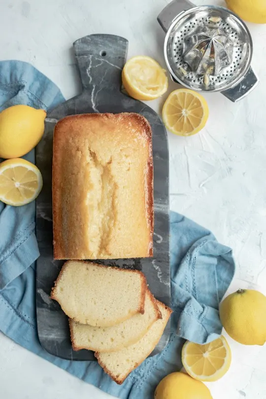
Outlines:
[[[55,126],[55,259],[153,256],[153,159],[135,113],[72,115]]]

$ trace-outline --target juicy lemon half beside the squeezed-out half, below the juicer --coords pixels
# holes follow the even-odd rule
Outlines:
[[[201,94],[189,89],[174,90],[163,106],[166,128],[180,136],[198,133],[209,116],[207,101]]]

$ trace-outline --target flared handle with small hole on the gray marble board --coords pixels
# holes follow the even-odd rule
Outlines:
[[[128,40],[113,34],[90,34],[73,43],[83,91],[120,90]]]

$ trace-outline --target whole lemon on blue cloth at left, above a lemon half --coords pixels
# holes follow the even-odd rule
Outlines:
[[[31,151],[44,132],[44,109],[13,105],[0,112],[0,158],[19,158]]]

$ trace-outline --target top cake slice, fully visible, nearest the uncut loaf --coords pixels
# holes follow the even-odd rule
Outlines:
[[[51,298],[71,319],[109,327],[144,313],[146,287],[141,271],[68,261],[55,281]]]

